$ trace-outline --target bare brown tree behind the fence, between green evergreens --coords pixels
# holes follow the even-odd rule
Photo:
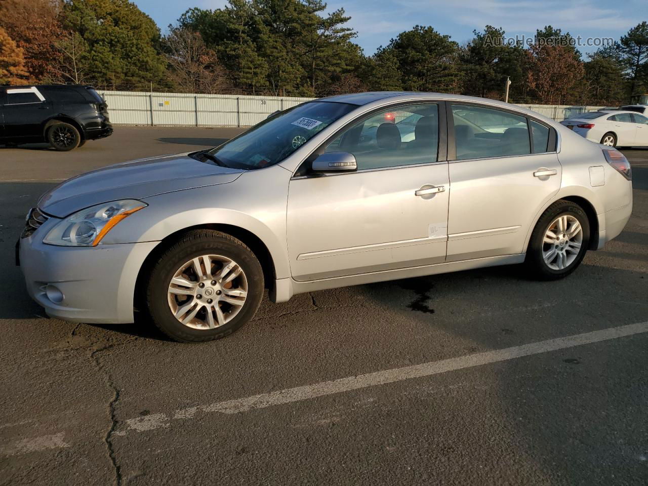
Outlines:
[[[172,29],[164,41],[171,78],[181,91],[214,94],[229,87],[226,69],[198,32]]]

